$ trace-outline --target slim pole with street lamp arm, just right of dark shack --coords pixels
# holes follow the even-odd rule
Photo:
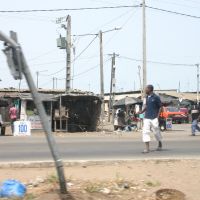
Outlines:
[[[101,118],[104,119],[104,73],[103,73],[103,32],[99,31],[99,46],[100,46],[100,95],[102,100]]]

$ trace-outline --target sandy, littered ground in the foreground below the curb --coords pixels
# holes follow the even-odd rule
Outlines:
[[[94,166],[66,167],[68,181],[72,183],[70,199],[155,199],[158,189],[177,189],[186,194],[187,200],[200,199],[200,160],[155,160],[129,161]],[[1,181],[17,179],[23,183],[34,182],[38,177],[49,179],[55,174],[54,168],[0,169]],[[128,183],[129,189],[113,191],[113,185]],[[28,200],[57,200],[57,184],[49,181],[28,189]],[[108,188],[109,194],[99,192]],[[32,196],[30,196],[32,195]],[[69,198],[68,198],[69,199]]]

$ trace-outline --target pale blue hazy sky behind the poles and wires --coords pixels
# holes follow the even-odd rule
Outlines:
[[[141,0],[1,0],[0,10],[30,10],[55,8],[80,8],[117,5],[139,5]],[[147,0],[148,6],[200,16],[200,0]],[[142,62],[142,9],[120,8],[90,11],[61,11],[33,13],[0,13],[1,31],[18,33],[34,80],[39,71],[39,87],[52,89],[53,77],[58,78],[57,88],[65,88],[65,50],[57,48],[56,39],[65,36],[59,17],[72,17],[72,35],[98,33],[121,27],[121,30],[103,34],[104,84],[109,92],[111,76],[110,55],[116,58],[117,91],[138,90],[140,88],[138,66]],[[200,63],[200,19],[174,15],[147,8],[147,60],[167,63]],[[73,36],[73,48],[78,56],[95,36]],[[3,44],[0,44],[3,49]],[[73,53],[73,51],[72,51]],[[131,59],[127,59],[131,58]],[[73,88],[100,91],[99,39],[93,43],[72,64]],[[19,87],[9,72],[5,56],[0,54],[0,87]],[[60,72],[58,72],[60,71]],[[56,73],[58,72],[58,73]],[[147,63],[148,83],[156,89],[178,89],[196,91],[196,67]],[[27,88],[25,79],[21,88]]]

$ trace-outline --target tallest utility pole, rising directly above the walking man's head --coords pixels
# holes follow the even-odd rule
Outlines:
[[[146,58],[146,2],[142,2],[143,8],[143,92],[147,85],[147,58]]]

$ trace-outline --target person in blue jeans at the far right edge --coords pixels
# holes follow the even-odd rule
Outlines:
[[[194,105],[191,109],[191,117],[192,117],[192,136],[195,136],[196,131],[200,132],[200,127],[198,126],[198,120],[199,120],[199,108],[197,105]]]

